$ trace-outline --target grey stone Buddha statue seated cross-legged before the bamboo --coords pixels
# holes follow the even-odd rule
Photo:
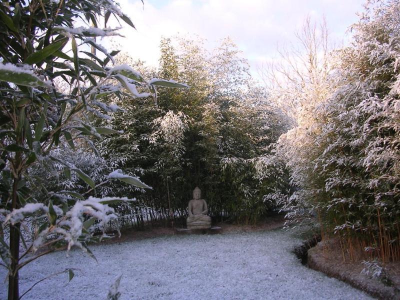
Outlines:
[[[186,219],[187,229],[203,229],[211,227],[211,218],[206,215],[208,212],[207,203],[201,199],[201,189],[197,186],[193,189],[193,199],[189,201],[189,216]]]

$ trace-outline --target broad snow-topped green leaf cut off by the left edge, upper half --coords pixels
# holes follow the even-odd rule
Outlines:
[[[10,64],[6,64],[5,67],[3,64],[0,65],[0,80],[23,86],[49,87],[46,82],[29,70],[18,68],[16,66],[14,68],[9,68],[9,65]]]

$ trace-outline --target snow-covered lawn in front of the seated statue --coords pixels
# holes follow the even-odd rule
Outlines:
[[[20,271],[22,299],[104,299],[122,274],[121,299],[368,299],[362,291],[303,266],[291,253],[298,240],[282,230],[175,235],[93,245],[98,263],[79,250],[56,252]],[[0,278],[6,276],[0,270]],[[0,298],[6,298],[6,281]]]

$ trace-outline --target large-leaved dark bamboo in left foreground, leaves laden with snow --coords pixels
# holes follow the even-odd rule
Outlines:
[[[121,110],[102,102],[104,95],[156,97],[156,86],[186,85],[158,78],[147,81],[126,64],[114,65],[117,52],[108,53],[94,37],[118,34],[117,28],[106,27],[111,15],[134,26],[112,0],[6,1],[1,2],[0,12],[0,211],[5,215],[0,229],[0,253],[2,265],[9,270],[8,298],[17,299],[18,269],[40,256],[36,253],[27,258],[31,249],[38,248],[40,242],[47,247],[42,253],[62,242],[84,247],[91,237],[84,231],[85,215],[103,222],[113,219],[113,209],[104,201],[121,200],[88,198],[96,189],[93,179],[62,157],[53,156],[53,151],[62,148],[61,144],[72,149],[84,144],[95,152],[90,138],[120,133],[107,126],[93,126],[89,121],[90,114],[109,119],[108,113]],[[104,17],[103,29],[98,28],[100,17]],[[84,25],[75,27],[77,19],[82,19]],[[64,50],[67,44],[70,50]],[[87,52],[90,46],[101,54]],[[62,80],[69,89],[58,88]],[[65,173],[74,173],[83,180],[89,186],[87,194],[68,191],[68,197],[63,197],[58,191],[34,197],[30,170],[33,166],[43,168],[46,160],[63,165]],[[134,176],[120,173],[111,179],[115,178],[147,187]],[[30,219],[42,218],[43,222],[34,246],[27,245],[20,255],[19,232],[25,214]],[[90,227],[93,223],[94,220],[86,224]],[[9,238],[4,237],[4,226],[9,229]]]

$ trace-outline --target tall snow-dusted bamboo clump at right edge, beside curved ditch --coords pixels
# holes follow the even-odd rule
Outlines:
[[[399,16],[398,1],[368,1],[351,46],[334,53],[314,120],[280,140],[297,187],[284,201],[289,216],[317,216],[352,259],[363,249],[400,258]]]

